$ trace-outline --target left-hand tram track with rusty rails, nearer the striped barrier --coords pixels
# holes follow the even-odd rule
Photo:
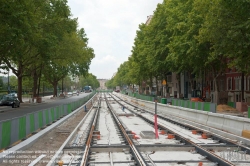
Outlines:
[[[86,122],[83,123],[83,126],[79,127],[78,131],[89,131],[85,132],[85,134],[88,135],[86,142],[81,142],[79,144],[75,141],[80,140],[82,137],[82,134],[79,134],[78,132],[72,136],[71,140],[73,141],[62,148],[64,154],[60,157],[58,156],[55,161],[51,161],[50,165],[58,163],[71,166],[106,164],[146,166],[145,161],[140,156],[140,153],[138,153],[133,141],[127,134],[122,123],[120,123],[119,118],[117,118],[113,112],[112,106],[105,95],[98,98],[95,108],[89,111],[85,121]],[[87,129],[88,127],[90,127],[90,129]],[[106,131],[103,127],[106,128]],[[105,137],[102,140],[100,139],[100,132],[102,133],[102,136]],[[82,146],[83,144],[84,146]],[[74,154],[72,152],[74,152]],[[102,152],[104,153],[102,154]],[[108,152],[108,154],[106,154],[106,152]],[[99,160],[100,156],[96,156],[97,154],[101,157],[106,156],[108,161],[105,161],[107,158],[105,158],[104,161],[103,159]],[[121,160],[121,158],[124,158],[124,160]]]

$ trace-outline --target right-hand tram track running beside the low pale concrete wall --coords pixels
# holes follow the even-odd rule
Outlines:
[[[117,97],[117,96],[116,96]],[[133,112],[136,116],[139,116],[141,118],[143,118],[145,121],[147,121],[148,123],[150,123],[152,126],[154,125],[154,121],[152,120],[153,118],[153,115],[154,113],[151,111],[147,111],[145,108],[141,108],[141,111],[143,112],[142,113],[138,113],[138,111],[135,111],[138,106],[135,106],[131,103],[128,103],[127,101],[123,101],[121,98],[117,97],[118,100],[116,100],[122,107],[126,107],[127,109],[129,109],[131,112]],[[126,104],[122,104],[121,102],[124,102]],[[128,105],[131,106],[132,108],[128,108]],[[133,109],[134,108],[134,109]],[[140,110],[138,108],[138,110]],[[151,115],[151,118],[147,118],[145,117],[144,115],[144,112],[147,112]],[[180,122],[176,122],[174,120],[171,120],[170,118],[166,118],[165,116],[161,116],[161,115],[158,115],[158,118],[159,119],[162,119],[164,121],[167,121],[167,122],[171,122],[171,123],[174,123],[175,125],[177,126],[180,126],[180,128],[183,128],[183,129],[187,129],[187,130],[191,130],[191,131],[198,131],[199,133],[206,133],[205,131],[202,131],[200,129],[197,129],[195,128],[194,126],[190,126],[190,125],[186,125],[186,124],[182,124]],[[159,121],[158,121],[159,122]],[[224,148],[227,147],[226,149],[235,149],[234,152],[239,152],[238,155],[245,155],[244,159],[246,160],[246,155],[249,155],[250,153],[250,150],[249,150],[249,147],[247,146],[244,146],[244,145],[241,145],[241,144],[237,144],[233,141],[229,141],[228,139],[223,139],[222,137],[218,136],[217,134],[212,134],[212,133],[209,133],[209,140],[213,140],[215,142],[214,143],[201,143],[199,145],[199,143],[194,143],[193,141],[189,140],[187,137],[184,137],[183,135],[180,135],[178,134],[178,132],[176,131],[173,131],[172,129],[169,129],[168,127],[166,127],[166,125],[162,125],[160,124],[161,122],[158,123],[158,128],[160,130],[164,130],[166,132],[166,134],[168,135],[174,135],[175,138],[177,140],[180,140],[180,142],[182,142],[182,145],[193,145],[195,146],[195,151],[196,152],[200,152],[203,156],[206,156],[206,158],[210,159],[211,161],[213,161],[214,163],[217,163],[218,165],[235,165],[235,164],[239,164],[237,159],[233,162],[230,162],[228,160],[225,159],[225,155],[222,157],[219,156],[218,154],[215,154],[215,153],[212,153],[211,149],[214,148],[214,146],[217,146],[217,147],[221,147],[221,148]],[[205,138],[207,139],[207,138]],[[216,144],[216,143],[219,143],[219,144]],[[229,152],[230,154],[230,152]],[[236,154],[236,153],[235,153]],[[228,156],[226,156],[228,157]],[[234,156],[235,157],[235,156]],[[236,157],[237,158],[237,157]],[[243,158],[243,157],[241,157]],[[239,159],[239,158],[238,158]],[[250,164],[250,161],[240,161],[241,163],[243,164],[246,164],[246,163],[249,163]]]

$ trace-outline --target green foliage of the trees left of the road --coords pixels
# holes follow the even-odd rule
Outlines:
[[[67,0],[3,0],[0,19],[0,68],[17,76],[19,93],[23,79],[25,87],[39,88],[42,77],[56,88],[67,75],[88,73],[94,51]]]

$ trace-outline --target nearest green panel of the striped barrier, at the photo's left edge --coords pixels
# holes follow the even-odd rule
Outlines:
[[[2,142],[1,148],[6,148],[10,145],[11,121],[2,123]]]

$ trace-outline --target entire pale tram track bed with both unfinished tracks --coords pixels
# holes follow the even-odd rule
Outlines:
[[[174,123],[174,124],[173,124]],[[154,114],[111,94],[99,94],[82,125],[48,165],[71,166],[229,166],[247,165],[247,147],[217,135],[198,138],[201,130],[158,115],[155,139]],[[187,133],[187,131],[189,133]],[[196,130],[198,134],[192,135]],[[152,134],[153,133],[153,134]],[[191,134],[190,134],[191,133]],[[149,135],[147,135],[149,134]],[[151,134],[151,135],[150,135]],[[171,138],[169,136],[172,136]],[[228,148],[245,159],[227,160]],[[227,153],[228,152],[228,153]]]

